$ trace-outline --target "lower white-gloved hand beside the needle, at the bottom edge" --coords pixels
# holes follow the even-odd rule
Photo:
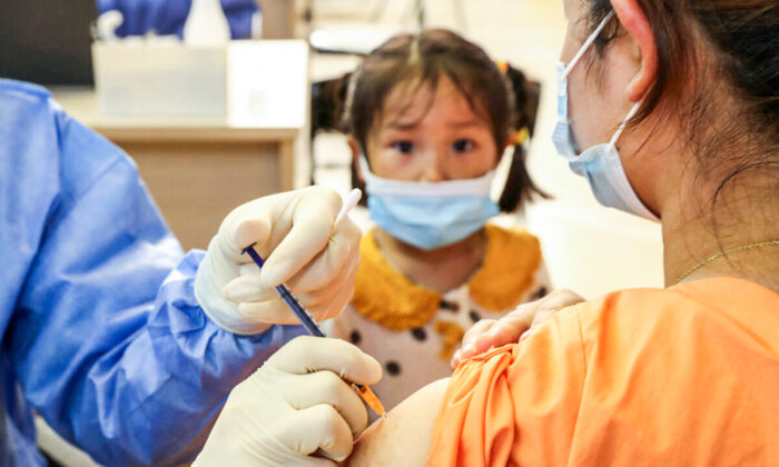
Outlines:
[[[342,377],[374,384],[382,367],[344,340],[290,340],[233,389],[194,466],[335,466],[367,425]]]

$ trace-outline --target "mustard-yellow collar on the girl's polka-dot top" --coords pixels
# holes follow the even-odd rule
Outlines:
[[[469,281],[471,298],[490,311],[509,310],[533,287],[541,265],[539,240],[532,235],[485,226],[487,248],[482,267]],[[355,279],[354,308],[393,330],[425,326],[438,310],[442,295],[412,282],[393,268],[367,232],[361,242],[362,262]]]

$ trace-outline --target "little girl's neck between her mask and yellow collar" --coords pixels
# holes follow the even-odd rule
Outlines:
[[[486,255],[486,232],[475,234],[434,250],[405,244],[381,228],[375,230],[376,245],[387,262],[415,284],[440,292],[462,286],[481,267]]]

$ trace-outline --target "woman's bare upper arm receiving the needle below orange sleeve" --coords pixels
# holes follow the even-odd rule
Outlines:
[[[348,466],[426,466],[433,425],[448,378],[423,387],[357,439]]]

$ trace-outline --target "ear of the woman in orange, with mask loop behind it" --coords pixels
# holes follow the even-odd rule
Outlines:
[[[612,0],[611,4],[641,54],[641,68],[625,89],[625,97],[631,102],[638,102],[658,77],[658,46],[639,0]]]

